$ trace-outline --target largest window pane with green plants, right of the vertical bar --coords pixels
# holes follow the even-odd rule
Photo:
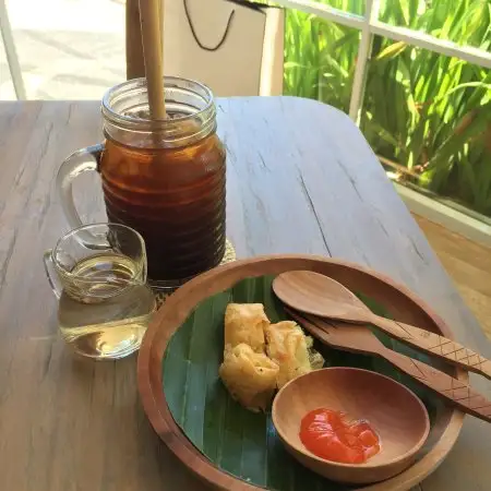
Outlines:
[[[491,216],[489,70],[375,36],[361,129],[394,178]]]

